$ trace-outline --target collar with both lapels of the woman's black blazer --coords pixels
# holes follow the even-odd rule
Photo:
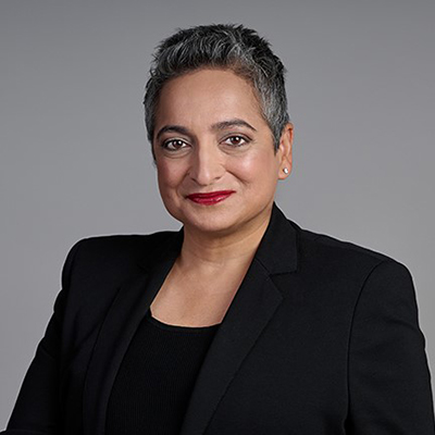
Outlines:
[[[170,272],[183,243],[183,229],[171,233],[147,272],[120,288],[101,326],[84,390],[85,435],[103,435],[110,393],[128,345]],[[216,334],[190,396],[181,435],[200,435],[210,424],[229,383],[261,332],[279,307],[283,295],[271,275],[297,269],[296,225],[274,204],[254,259]]]

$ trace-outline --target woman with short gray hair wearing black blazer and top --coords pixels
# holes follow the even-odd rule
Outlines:
[[[434,434],[412,278],[274,204],[284,66],[243,26],[158,48],[146,125],[183,228],[89,238],[7,434]]]

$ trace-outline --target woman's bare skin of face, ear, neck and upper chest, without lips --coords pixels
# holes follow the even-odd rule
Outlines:
[[[287,124],[275,152],[253,88],[232,71],[199,70],[164,85],[153,151],[162,200],[185,238],[154,316],[196,326],[222,320],[268,227],[277,182],[291,171],[291,140]],[[187,198],[217,190],[233,194],[213,206]]]

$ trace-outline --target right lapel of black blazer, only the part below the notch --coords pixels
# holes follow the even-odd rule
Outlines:
[[[181,435],[203,434],[214,410],[283,297],[254,261],[198,374]]]

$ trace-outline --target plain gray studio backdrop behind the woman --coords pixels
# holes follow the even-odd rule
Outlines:
[[[0,1],[0,427],[79,238],[177,228],[142,123],[151,52],[176,27],[252,26],[288,67],[300,226],[414,277],[435,368],[433,0]]]

